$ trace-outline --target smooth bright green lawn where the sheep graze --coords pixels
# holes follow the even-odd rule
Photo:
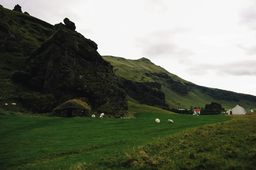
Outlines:
[[[105,169],[107,159],[122,159],[125,152],[158,137],[230,120],[223,115],[168,113],[137,113],[135,117],[101,120],[0,115],[0,169],[79,169],[77,166],[85,163]],[[160,124],[155,123],[156,118]],[[168,124],[168,119],[174,123]]]

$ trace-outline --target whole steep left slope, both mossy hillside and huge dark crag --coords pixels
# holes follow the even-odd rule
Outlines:
[[[53,26],[0,9],[1,103],[22,102],[35,112],[46,112],[85,97],[98,112],[116,115],[128,109],[113,67],[94,41],[75,31],[73,22],[66,18],[66,25]]]

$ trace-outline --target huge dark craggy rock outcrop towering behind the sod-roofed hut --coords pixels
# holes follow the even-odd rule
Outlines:
[[[96,51],[97,44],[56,24],[51,38],[30,55],[28,71],[43,93],[54,94],[57,104],[87,97],[99,112],[116,115],[128,109],[123,85],[111,64]]]

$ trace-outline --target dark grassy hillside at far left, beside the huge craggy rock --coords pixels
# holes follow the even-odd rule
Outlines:
[[[21,106],[19,94],[31,90],[14,83],[11,77],[15,71],[26,70],[28,56],[52,35],[53,25],[1,6],[0,10],[3,11],[0,15],[0,105],[17,103]]]

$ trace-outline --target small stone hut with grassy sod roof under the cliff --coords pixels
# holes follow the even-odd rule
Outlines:
[[[53,109],[53,116],[57,117],[89,117],[91,107],[81,100],[72,99]]]

